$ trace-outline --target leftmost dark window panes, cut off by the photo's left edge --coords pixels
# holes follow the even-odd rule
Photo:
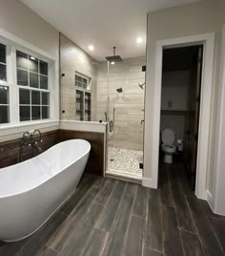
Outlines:
[[[7,82],[7,47],[0,44],[0,123],[10,122],[10,90]]]

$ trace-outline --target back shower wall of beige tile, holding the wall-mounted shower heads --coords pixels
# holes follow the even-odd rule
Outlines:
[[[144,90],[138,84],[145,82],[145,57],[123,59],[122,62],[110,66],[110,120],[113,120],[114,131],[111,133],[109,145],[133,150],[143,150],[144,123]],[[116,89],[122,88],[123,93]],[[143,86],[145,88],[145,85]],[[107,109],[107,62],[98,63],[97,72],[97,119],[105,121]]]

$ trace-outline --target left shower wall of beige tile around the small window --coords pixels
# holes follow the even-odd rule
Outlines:
[[[96,120],[97,63],[63,34],[60,35],[61,118],[75,120],[75,72],[92,78],[92,120]],[[64,113],[62,113],[64,111]]]

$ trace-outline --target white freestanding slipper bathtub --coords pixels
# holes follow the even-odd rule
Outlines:
[[[90,150],[88,141],[71,139],[0,169],[0,240],[24,239],[46,223],[74,192]]]

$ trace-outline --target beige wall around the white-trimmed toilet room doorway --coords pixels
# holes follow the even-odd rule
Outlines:
[[[148,14],[147,44],[147,91],[145,124],[145,169],[144,177],[153,178],[153,125],[154,125],[154,74],[156,42],[163,39],[215,32],[215,70],[212,102],[211,145],[209,166],[214,165],[215,100],[218,96],[219,53],[221,45],[221,24],[223,12],[220,0],[205,0],[188,6],[182,6]],[[214,171],[213,168],[209,168]],[[213,190],[213,173],[208,174],[208,188]]]

